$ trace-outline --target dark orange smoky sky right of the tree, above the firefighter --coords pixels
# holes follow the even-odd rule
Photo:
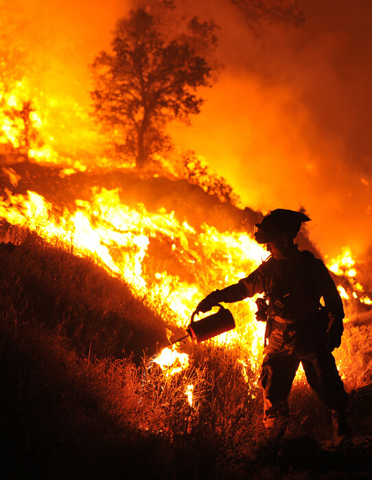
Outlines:
[[[301,9],[303,27],[264,25],[258,38],[236,10],[216,15],[226,69],[180,136],[245,204],[304,206],[321,251],[361,252],[372,239],[372,2]]]

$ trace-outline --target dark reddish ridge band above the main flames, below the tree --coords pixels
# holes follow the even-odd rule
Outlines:
[[[222,232],[248,230],[252,233],[255,223],[262,218],[260,212],[251,208],[221,202],[218,191],[208,194],[198,184],[170,176],[146,176],[123,170],[78,171],[69,175],[61,172],[61,167],[43,167],[27,160],[13,163],[0,171],[0,191],[25,195],[31,190],[56,206],[75,208],[75,199],[91,200],[92,188],[119,189],[121,201],[130,207],[143,204],[152,213],[159,209],[167,213],[174,211],[181,224],[187,221],[194,228],[200,228],[207,223]],[[304,248],[311,246],[316,250],[306,236],[301,234],[300,239]]]

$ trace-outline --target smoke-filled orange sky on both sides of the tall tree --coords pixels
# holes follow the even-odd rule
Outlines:
[[[58,88],[89,105],[87,65],[136,3],[19,0],[46,97]],[[305,207],[323,253],[364,252],[372,238],[372,2],[302,0],[302,27],[264,21],[258,33],[229,0],[178,3],[220,25],[225,68],[202,92],[207,101],[191,126],[171,125],[176,143],[204,156],[246,206]]]

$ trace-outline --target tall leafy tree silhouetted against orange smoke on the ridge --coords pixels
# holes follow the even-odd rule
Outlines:
[[[120,19],[111,51],[102,51],[93,63],[95,117],[110,132],[117,152],[135,159],[139,169],[154,153],[171,148],[165,132],[169,121],[188,123],[200,112],[204,100],[196,91],[210,85],[207,57],[217,43],[213,22],[194,17],[181,34],[170,23],[177,21],[174,3],[162,5],[156,11],[137,8]]]

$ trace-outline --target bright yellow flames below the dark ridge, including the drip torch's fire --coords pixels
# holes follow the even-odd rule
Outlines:
[[[198,267],[200,259],[209,259],[210,268],[221,272],[215,288],[224,287],[242,278],[242,272],[252,271],[267,256],[266,250],[242,232],[218,232],[204,225],[196,232],[185,222],[180,224],[174,213],[149,213],[143,205],[130,208],[121,203],[119,191],[92,189],[92,200],[76,200],[73,211],[62,215],[38,193],[12,195],[0,199],[0,217],[10,224],[38,232],[49,242],[58,241],[78,255],[89,255],[112,274],[123,278],[138,296],[153,309],[166,304],[173,312],[174,326],[185,328],[196,304],[208,293],[196,283],[187,283],[166,271],[143,275],[143,261],[148,245],[157,236],[169,239],[173,251],[192,252],[187,261]],[[205,262],[205,260],[203,260]],[[329,264],[336,274],[347,274],[354,280],[354,261],[349,251]],[[353,281],[351,295],[360,302],[371,304],[361,286]],[[343,298],[349,293],[338,286]],[[237,317],[237,328],[219,335],[212,341],[225,348],[238,344],[244,348],[244,361],[255,371],[261,355],[264,324],[255,321],[255,298],[247,298],[240,306],[230,307]],[[244,320],[242,320],[244,319]],[[155,361],[171,375],[187,368],[188,358],[176,350],[165,348]]]

